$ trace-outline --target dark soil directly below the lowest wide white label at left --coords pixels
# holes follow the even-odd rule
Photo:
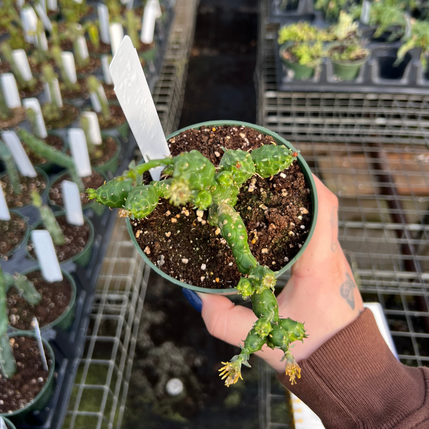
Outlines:
[[[6,294],[7,314],[10,325],[15,329],[33,329],[33,317],[36,317],[40,327],[57,320],[67,309],[72,296],[72,288],[65,277],[63,281],[48,283],[40,271],[34,271],[27,274],[27,278],[33,282],[42,300],[37,305],[30,305],[15,287],[9,288]]]

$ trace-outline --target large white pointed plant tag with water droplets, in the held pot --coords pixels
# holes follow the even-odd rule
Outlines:
[[[146,82],[139,56],[129,36],[125,36],[110,63],[110,76],[115,94],[130,124],[145,161],[165,158],[170,150]],[[153,180],[159,180],[163,167],[150,170]]]

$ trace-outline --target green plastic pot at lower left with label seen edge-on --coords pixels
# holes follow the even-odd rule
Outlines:
[[[31,331],[19,331],[11,332],[8,334],[9,338],[12,337],[35,337],[34,333]],[[33,411],[39,411],[48,405],[49,400],[51,399],[52,393],[54,391],[54,371],[55,371],[55,355],[54,350],[49,345],[48,341],[45,338],[42,338],[43,345],[49,351],[49,356],[46,356],[46,360],[51,360],[51,368],[49,369],[48,381],[46,381],[45,386],[39,392],[39,394],[34,398],[33,402],[27,404],[24,408],[13,411],[12,413],[0,414],[1,417],[6,417],[9,420],[12,420],[14,423],[21,422],[25,420],[27,415]]]

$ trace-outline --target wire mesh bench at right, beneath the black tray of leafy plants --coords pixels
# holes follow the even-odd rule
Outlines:
[[[276,91],[278,24],[259,4],[258,121],[338,196],[339,240],[363,299],[381,303],[402,363],[429,366],[429,98]],[[271,386],[260,391],[260,427],[289,427],[270,419]]]

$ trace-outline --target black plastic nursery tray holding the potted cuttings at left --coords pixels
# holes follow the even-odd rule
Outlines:
[[[133,157],[135,147],[136,140],[130,134],[127,143],[122,145],[121,163],[117,174],[121,174],[127,168]],[[45,196],[46,198],[47,196]],[[29,219],[31,230],[32,225],[36,224],[39,219],[38,212],[33,207],[25,208],[20,212]],[[94,224],[95,235],[91,260],[86,268],[74,263],[67,263],[61,266],[63,270],[70,272],[76,281],[75,319],[67,331],[48,329],[42,332],[42,336],[49,341],[55,352],[54,395],[44,410],[30,414],[24,422],[15,423],[17,428],[60,429],[63,426],[69,397],[85,347],[89,314],[94,301],[98,274],[102,267],[117,217],[117,212],[112,210],[105,210],[102,216],[95,215],[91,209],[85,210],[84,214]],[[1,261],[2,268],[12,274],[15,271],[22,272],[25,269],[36,268],[37,263],[34,260],[27,259],[26,254],[25,246],[21,246],[13,257],[7,261]]]

